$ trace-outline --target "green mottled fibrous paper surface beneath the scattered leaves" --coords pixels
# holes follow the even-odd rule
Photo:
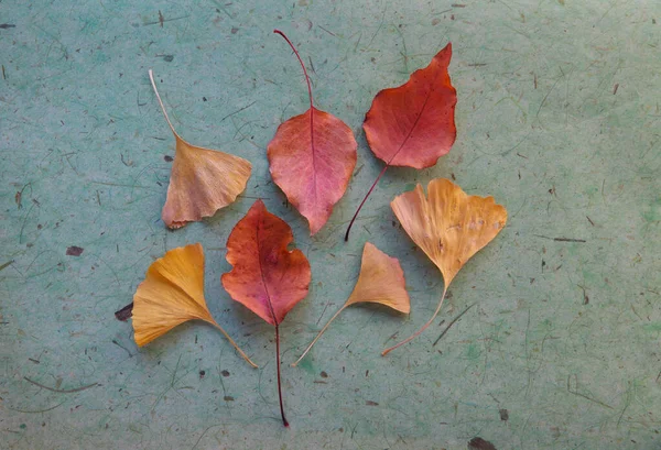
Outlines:
[[[0,2],[14,25],[0,28],[0,448],[466,449],[477,436],[500,450],[660,448],[660,21],[655,0]],[[274,28],[359,145],[312,239],[268,173],[275,128],[307,108]],[[447,41],[455,146],[431,169],[389,171],[344,243],[381,168],[360,128],[371,99]],[[160,221],[174,141],[148,68],[185,139],[253,164],[236,204],[175,232]],[[452,174],[506,205],[508,226],[455,278],[436,325],[381,358],[442,287],[388,202]],[[289,430],[273,329],[219,282],[254,197],[313,270],[282,326]],[[366,240],[401,260],[410,317],[349,308],[290,367],[349,294]],[[113,317],[155,257],[197,241],[212,311],[259,370],[202,323],[138,350]]]

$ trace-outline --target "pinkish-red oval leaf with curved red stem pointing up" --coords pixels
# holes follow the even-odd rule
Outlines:
[[[273,182],[307,219],[310,233],[315,234],[347,189],[358,144],[346,123],[314,107],[310,77],[299,52],[284,33],[274,33],[284,37],[303,67],[310,109],[278,128],[268,146],[269,166]]]

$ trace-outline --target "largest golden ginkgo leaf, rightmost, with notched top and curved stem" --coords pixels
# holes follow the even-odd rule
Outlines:
[[[447,287],[464,264],[502,230],[507,210],[494,197],[469,196],[449,179],[432,179],[427,197],[422,186],[390,204],[409,234],[443,274],[444,289],[432,318],[413,336],[382,352],[383,355],[423,332],[443,306]]]

